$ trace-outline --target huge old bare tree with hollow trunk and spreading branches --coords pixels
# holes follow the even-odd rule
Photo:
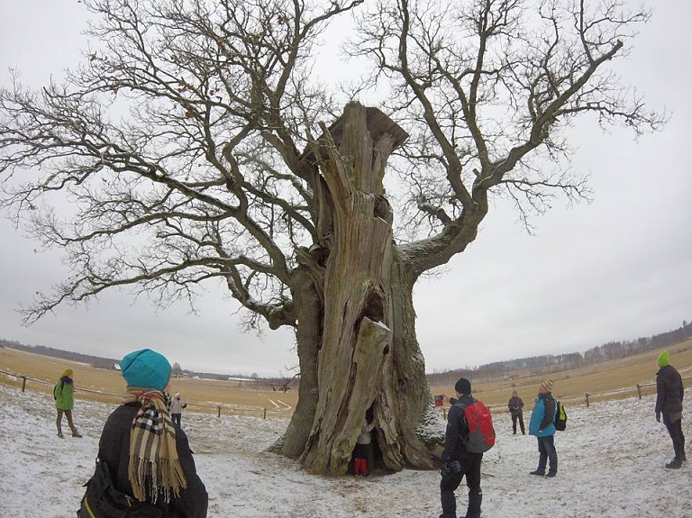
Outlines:
[[[165,306],[223,282],[250,325],[296,331],[278,448],[314,472],[345,472],[366,413],[387,468],[436,464],[416,280],[476,238],[492,196],[528,225],[587,195],[566,168],[577,115],[661,123],[608,67],[648,16],[617,0],[85,3],[85,62],[0,92],[2,204],[74,272],[26,322],[114,286]],[[377,91],[379,109],[311,77],[350,13],[370,65],[351,99]]]

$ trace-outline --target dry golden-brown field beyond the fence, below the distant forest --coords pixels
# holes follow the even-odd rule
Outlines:
[[[678,368],[683,378],[692,377],[692,340],[667,348],[671,364]],[[600,401],[636,394],[636,386],[655,382],[656,357],[661,350],[651,350],[625,359],[606,361],[585,368],[553,373],[554,394],[571,404],[583,404],[585,394],[589,400]],[[120,372],[94,368],[86,364],[54,359],[47,356],[0,348],[0,371],[27,377],[26,389],[50,395],[60,374],[66,368],[74,370],[76,398],[117,404],[123,394],[124,381]],[[521,376],[521,377],[519,377]],[[507,373],[503,381],[475,383],[473,392],[486,404],[504,408],[513,390],[531,407],[533,397],[545,375]],[[7,376],[0,372],[0,383],[21,386],[21,377]],[[686,381],[686,386],[689,380]],[[188,410],[224,414],[247,414],[287,417],[296,406],[297,392],[273,392],[238,381],[175,378],[171,391],[178,391],[188,403]],[[453,386],[432,386],[435,394],[453,395]],[[655,392],[655,386],[642,387],[642,394]]]

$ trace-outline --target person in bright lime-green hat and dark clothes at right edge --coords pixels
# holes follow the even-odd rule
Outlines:
[[[685,456],[685,435],[682,433],[682,399],[685,387],[676,368],[670,365],[669,353],[664,350],[657,359],[659,371],[656,373],[656,421],[666,425],[673,441],[675,457],[666,464],[668,469],[680,468],[687,461]]]

